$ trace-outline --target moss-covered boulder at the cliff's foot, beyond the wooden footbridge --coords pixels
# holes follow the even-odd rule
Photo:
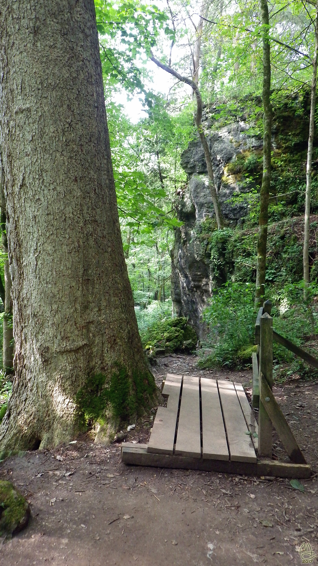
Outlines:
[[[141,336],[146,350],[168,348],[170,351],[192,351],[197,346],[197,334],[184,316],[157,321]]]

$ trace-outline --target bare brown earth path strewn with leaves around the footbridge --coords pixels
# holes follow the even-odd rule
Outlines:
[[[249,371],[200,371],[195,362],[184,355],[160,358],[157,383],[167,372],[228,376],[246,386],[251,379]],[[318,385],[289,382],[274,392],[318,469]],[[152,420],[152,414],[142,419],[126,440],[147,441]],[[1,566],[302,564],[303,542],[318,555],[315,478],[302,481],[302,493],[286,480],[130,468],[119,457],[120,443],[104,449],[84,438],[54,453],[3,462],[0,479],[27,496],[32,520],[12,541],[0,541]]]

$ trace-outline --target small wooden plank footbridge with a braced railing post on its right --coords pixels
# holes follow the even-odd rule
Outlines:
[[[276,333],[270,312],[271,304],[267,301],[256,319],[258,353],[252,357],[252,407],[240,383],[167,374],[162,386],[167,406],[157,410],[149,444],[121,444],[121,460],[125,464],[310,477],[310,466],[272,393],[272,343]],[[280,343],[287,342],[277,336]],[[308,361],[309,354],[298,350],[298,355],[307,355]],[[312,360],[318,366],[318,361]],[[259,409],[258,422],[253,408]],[[286,449],[288,461],[272,460],[272,425]]]

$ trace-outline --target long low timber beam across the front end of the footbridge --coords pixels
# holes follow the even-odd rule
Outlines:
[[[227,474],[271,475],[280,478],[310,478],[310,466],[305,464],[286,464],[273,460],[252,462],[231,462],[230,460],[203,460],[203,458],[185,458],[147,452],[142,444],[121,444],[121,461],[134,466],[154,466],[155,468],[218,471]],[[140,448],[141,447],[141,448]]]

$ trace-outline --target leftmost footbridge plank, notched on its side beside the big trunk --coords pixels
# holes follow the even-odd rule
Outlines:
[[[158,407],[148,444],[148,452],[173,454],[182,375],[167,374],[162,395],[167,407]]]

